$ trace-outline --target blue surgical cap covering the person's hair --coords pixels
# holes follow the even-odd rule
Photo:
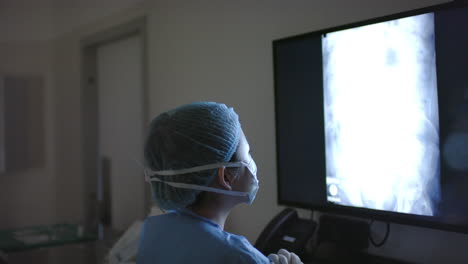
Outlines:
[[[240,138],[239,117],[232,108],[214,102],[183,105],[154,118],[144,146],[145,165],[153,171],[179,170],[228,162]],[[164,180],[209,185],[217,170],[174,176]],[[154,202],[164,210],[184,208],[200,191],[151,182]]]

